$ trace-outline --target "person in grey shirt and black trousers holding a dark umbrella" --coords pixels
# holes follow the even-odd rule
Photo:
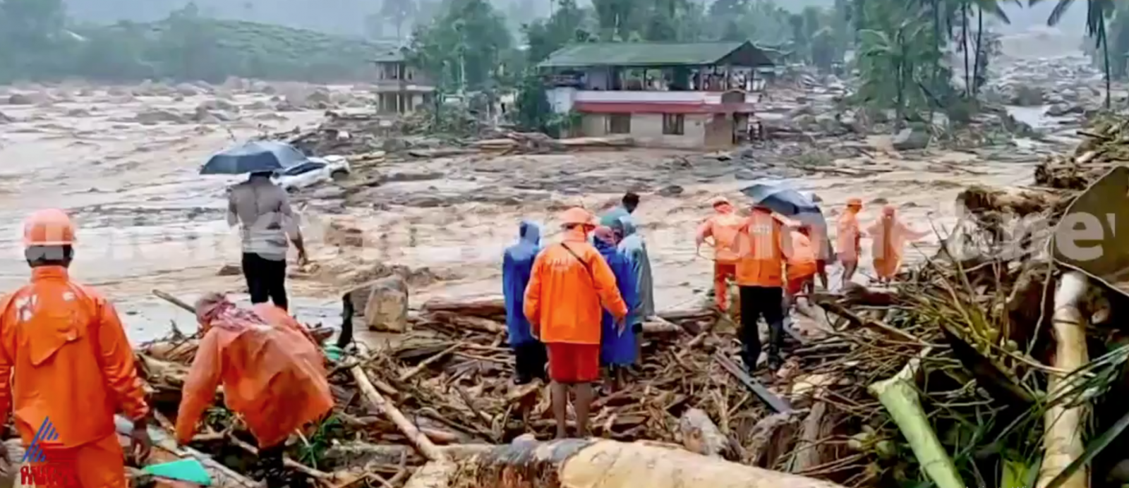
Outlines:
[[[288,310],[286,255],[290,243],[298,263],[306,262],[306,245],[286,190],[271,181],[271,173],[252,173],[228,195],[227,224],[239,225],[243,242],[243,276],[252,304],[274,302]]]

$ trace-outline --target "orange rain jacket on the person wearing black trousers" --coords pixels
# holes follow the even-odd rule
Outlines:
[[[785,249],[784,223],[771,211],[753,209],[737,238],[737,285],[782,287]]]

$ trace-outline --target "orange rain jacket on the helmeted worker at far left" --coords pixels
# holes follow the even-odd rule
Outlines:
[[[117,312],[65,268],[34,268],[0,311],[0,411],[15,407],[24,445],[47,419],[58,438],[44,446],[68,448],[116,442],[119,410],[134,420],[149,413]]]

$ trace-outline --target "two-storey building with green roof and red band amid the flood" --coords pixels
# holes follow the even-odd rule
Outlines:
[[[648,146],[724,148],[746,137],[771,67],[749,42],[587,43],[539,64],[553,111],[580,114],[574,136],[629,134]]]

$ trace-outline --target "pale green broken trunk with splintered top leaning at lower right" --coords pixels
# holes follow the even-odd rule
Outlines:
[[[929,418],[921,409],[917,386],[913,384],[921,368],[921,358],[930,350],[925,348],[918,357],[910,359],[901,372],[872,384],[868,390],[890,412],[902,436],[909,441],[921,470],[929,476],[937,488],[964,488],[965,485],[956,472],[956,464],[953,464],[952,457],[940,445],[937,433],[929,426]]]

